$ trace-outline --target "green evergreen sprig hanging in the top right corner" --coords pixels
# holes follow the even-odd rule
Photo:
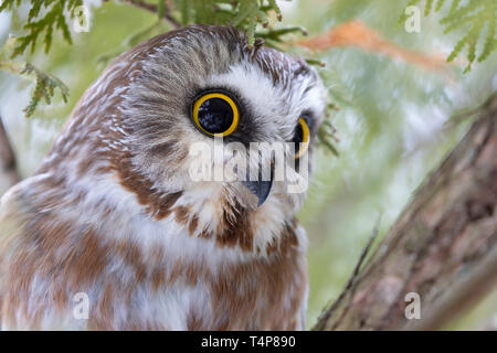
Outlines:
[[[416,6],[422,0],[410,0],[408,6]],[[497,1],[496,0],[424,0],[424,14],[441,11],[442,8],[451,3],[447,13],[440,20],[445,26],[444,32],[450,33],[455,30],[464,30],[465,35],[447,57],[447,62],[454,61],[457,55],[467,46],[468,65],[465,73],[469,72],[475,61],[483,62],[496,49],[496,24],[497,24]],[[485,32],[486,30],[486,32]],[[476,53],[478,43],[483,43],[479,54]]]

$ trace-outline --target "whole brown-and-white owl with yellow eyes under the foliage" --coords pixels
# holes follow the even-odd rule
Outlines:
[[[297,172],[325,107],[313,67],[234,28],[192,25],[121,54],[1,200],[1,328],[304,329],[306,193],[274,173],[193,180],[191,146],[302,142]]]

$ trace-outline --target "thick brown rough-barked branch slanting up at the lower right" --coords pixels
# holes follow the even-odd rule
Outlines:
[[[497,284],[497,95],[315,330],[441,329]],[[405,295],[421,319],[405,318]]]

